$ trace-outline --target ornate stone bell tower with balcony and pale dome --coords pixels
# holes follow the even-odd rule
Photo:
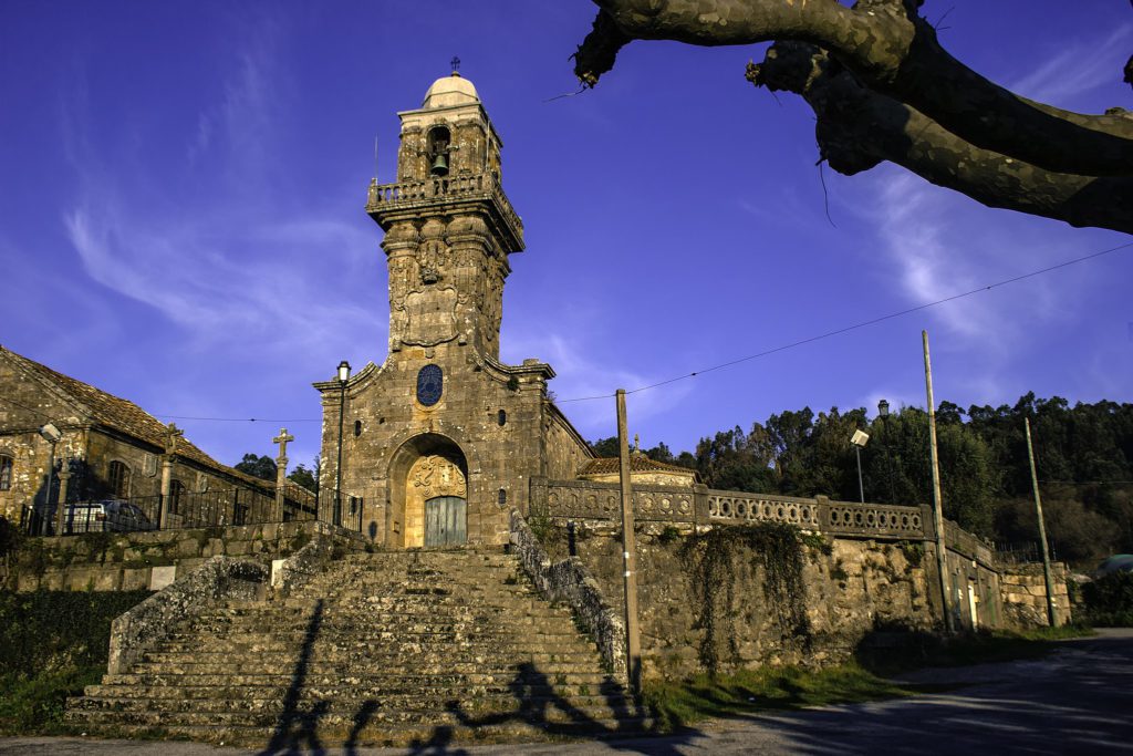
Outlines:
[[[444,360],[469,347],[499,359],[508,255],[523,249],[500,181],[500,136],[455,71],[398,117],[398,180],[372,182],[366,203],[385,231],[390,359]]]

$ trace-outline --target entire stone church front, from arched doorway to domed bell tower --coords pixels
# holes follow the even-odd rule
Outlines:
[[[385,232],[389,352],[315,383],[323,481],[361,498],[377,544],[501,544],[533,477],[573,479],[594,455],[548,398],[550,365],[500,362],[503,286],[523,226],[476,88],[454,73],[398,116],[398,180],[375,180],[366,206]]]

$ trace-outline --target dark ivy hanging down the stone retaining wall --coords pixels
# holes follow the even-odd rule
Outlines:
[[[809,646],[802,547],[799,528],[782,523],[713,528],[684,540],[681,559],[691,576],[693,627],[704,630],[700,664],[710,674],[719,671],[722,651],[729,660],[739,654],[736,592],[743,576],[736,570],[743,559],[750,559],[753,575],[763,574],[764,610],[774,615],[783,639]]]

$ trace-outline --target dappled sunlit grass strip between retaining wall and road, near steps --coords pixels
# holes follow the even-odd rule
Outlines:
[[[708,717],[860,703],[913,691],[857,664],[845,664],[823,670],[764,666],[734,674],[698,674],[680,682],[653,680],[645,683],[644,693],[656,728],[673,732]]]

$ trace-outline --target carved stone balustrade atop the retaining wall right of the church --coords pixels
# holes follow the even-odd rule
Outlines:
[[[531,481],[531,515],[571,520],[619,520],[621,494],[613,483]],[[636,485],[638,521],[674,525],[786,523],[804,530],[869,538],[932,537],[931,519],[919,507],[804,499],[739,491]],[[966,534],[965,534],[966,535]]]

